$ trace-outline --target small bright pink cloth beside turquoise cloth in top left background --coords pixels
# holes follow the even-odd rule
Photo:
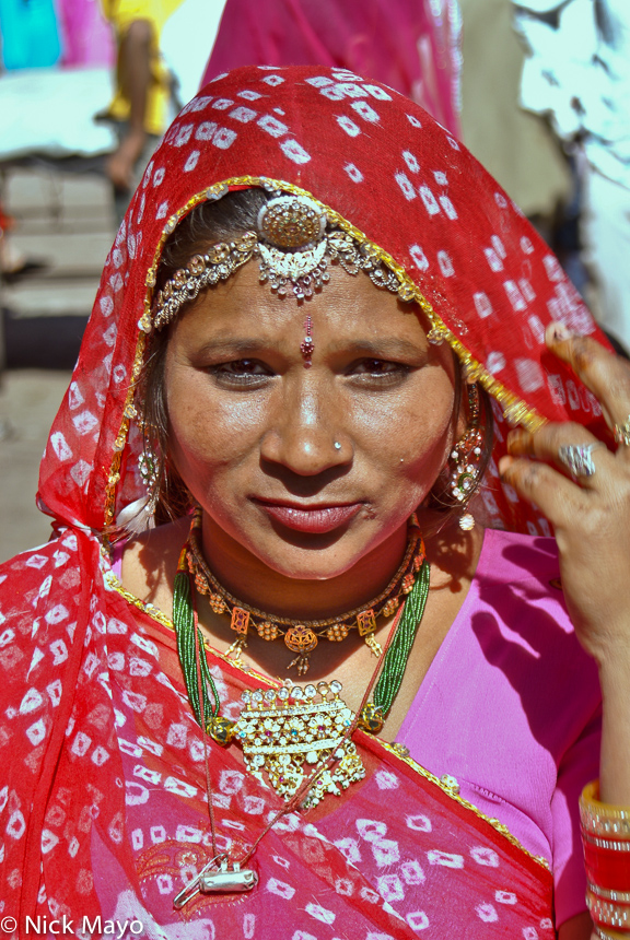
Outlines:
[[[56,0],[61,34],[62,68],[107,66],[116,61],[116,47],[98,0]]]

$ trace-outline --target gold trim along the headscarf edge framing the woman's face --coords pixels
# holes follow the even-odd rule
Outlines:
[[[401,292],[405,296],[405,299],[416,301],[416,303],[423,310],[425,316],[428,317],[432,330],[434,330],[434,334],[444,339],[451,349],[455,352],[459,361],[463,363],[466,372],[466,377],[472,381],[479,381],[483,388],[498,400],[501,408],[503,409],[503,414],[506,420],[511,424],[522,424],[528,431],[537,431],[542,424],[546,423],[546,419],[538,414],[535,409],[530,408],[522,398],[514,395],[514,392],[510,391],[505,386],[498,381],[482,365],[478,362],[470,353],[468,349],[464,345],[464,343],[448,329],[448,327],[444,324],[442,318],[435,313],[429,301],[423,296],[418,285],[415,281],[411,280],[405,268],[398,265],[394,258],[387,254],[383,248],[378,245],[375,245],[373,242],[368,238],[368,236],[361,232],[359,228],[355,228],[350,222],[339,215],[330,207],[326,205],[324,202],[320,202],[315,196],[308,192],[306,189],[302,189],[299,186],[294,186],[292,183],[285,183],[282,179],[270,179],[265,176],[236,176],[231,177],[230,179],[225,179],[222,183],[215,183],[212,186],[209,186],[207,189],[201,190],[188,202],[182,207],[182,209],[177,210],[166,224],[162,231],[162,236],[160,242],[158,243],[158,248],[155,249],[155,254],[153,257],[153,263],[147,273],[145,284],[147,284],[147,293],[144,295],[144,313],[142,318],[140,319],[140,330],[138,334],[138,341],[136,345],[136,354],[133,357],[133,365],[131,369],[131,381],[129,385],[129,389],[127,392],[127,398],[125,401],[125,408],[122,410],[122,421],[120,423],[120,428],[118,431],[118,435],[116,437],[116,442],[114,445],[114,456],[112,458],[112,463],[109,467],[109,474],[107,479],[107,486],[105,490],[105,527],[109,527],[114,524],[115,520],[115,508],[116,508],[116,487],[120,480],[120,463],[122,460],[122,451],[125,449],[125,444],[127,442],[127,434],[129,433],[129,424],[137,416],[137,409],[133,403],[133,398],[136,395],[136,388],[138,386],[138,380],[142,373],[143,363],[144,363],[144,349],[147,344],[147,337],[151,332],[152,329],[152,317],[151,317],[151,306],[153,302],[153,290],[155,287],[156,274],[158,274],[158,266],[160,263],[160,258],[162,257],[162,248],[164,243],[168,238],[168,236],[175,231],[177,224],[180,220],[187,215],[196,205],[200,202],[207,201],[215,201],[221,199],[226,195],[229,188],[231,186],[240,186],[240,187],[260,187],[268,191],[281,190],[283,192],[290,192],[293,196],[306,196],[308,199],[312,199],[323,211],[326,212],[331,224],[337,225],[343,232],[347,232],[351,237],[359,244],[365,245],[370,248],[370,251],[373,252],[374,257],[377,257],[378,260],[389,268],[400,282],[404,291]]]

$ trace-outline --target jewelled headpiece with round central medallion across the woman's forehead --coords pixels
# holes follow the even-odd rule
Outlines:
[[[313,199],[278,195],[258,212],[256,232],[213,245],[175,272],[158,293],[154,329],[163,329],[184,304],[196,299],[205,287],[228,280],[254,256],[259,259],[260,282],[268,283],[279,297],[292,294],[299,303],[330,280],[330,259],[349,274],[365,271],[377,287],[412,299],[408,285],[382,263],[374,245],[359,244],[334,227],[325,209]]]

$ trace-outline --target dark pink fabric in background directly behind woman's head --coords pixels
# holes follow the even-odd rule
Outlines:
[[[317,64],[376,79],[460,136],[453,0],[228,0],[200,87],[240,66]]]

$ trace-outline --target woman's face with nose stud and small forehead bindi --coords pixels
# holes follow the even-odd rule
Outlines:
[[[300,306],[258,278],[246,265],[172,327],[171,456],[232,556],[330,578],[399,543],[433,485],[454,437],[453,361],[363,273],[331,266]]]

